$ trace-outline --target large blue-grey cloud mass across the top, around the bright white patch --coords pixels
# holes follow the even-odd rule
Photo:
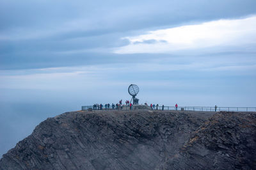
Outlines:
[[[100,5],[99,5],[100,4]],[[113,5],[115,4],[115,5]],[[98,61],[112,48],[129,44],[125,36],[204,20],[243,17],[256,12],[256,1],[13,1],[0,2],[1,68],[76,65]],[[47,32],[51,33],[47,35]],[[38,32],[38,37],[26,37]],[[29,36],[28,36],[29,37]],[[160,41],[164,43],[163,41]],[[156,43],[146,40],[136,43]],[[84,54],[56,54],[74,50],[106,49]],[[54,53],[55,52],[55,53]],[[77,61],[74,61],[76,60]],[[106,62],[116,62],[109,59]],[[18,65],[19,63],[19,65]]]

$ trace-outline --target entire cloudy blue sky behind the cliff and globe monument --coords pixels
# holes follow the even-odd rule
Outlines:
[[[140,103],[256,107],[256,1],[0,0],[0,157],[132,83]]]

